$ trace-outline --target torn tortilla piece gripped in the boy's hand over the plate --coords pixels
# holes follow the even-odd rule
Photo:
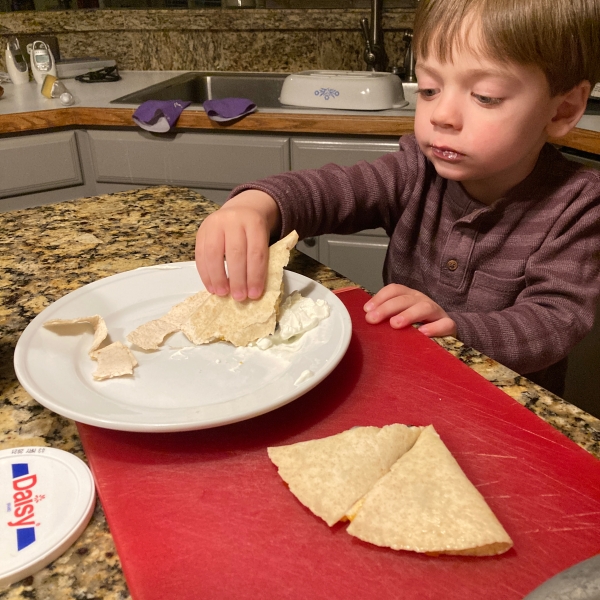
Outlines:
[[[283,267],[297,242],[298,234],[292,231],[269,248],[267,282],[258,300],[237,302],[231,296],[211,295],[181,331],[194,344],[225,340],[234,346],[247,346],[272,334],[283,292]]]

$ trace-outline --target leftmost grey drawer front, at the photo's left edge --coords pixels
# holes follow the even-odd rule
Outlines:
[[[0,198],[82,184],[74,131],[0,139]]]

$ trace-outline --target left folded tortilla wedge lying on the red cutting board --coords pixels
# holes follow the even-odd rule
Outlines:
[[[337,435],[267,448],[290,491],[331,526],[385,475],[421,427],[355,427]]]

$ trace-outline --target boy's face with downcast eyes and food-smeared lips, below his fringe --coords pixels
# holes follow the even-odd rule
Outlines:
[[[490,204],[531,173],[560,104],[541,69],[465,48],[418,60],[416,74],[415,135],[439,175]]]

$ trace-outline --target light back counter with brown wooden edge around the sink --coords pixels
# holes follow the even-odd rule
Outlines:
[[[134,105],[110,104],[125,94],[160,83],[183,71],[122,71],[121,81],[86,84],[66,79],[75,104],[63,107],[58,99],[39,93],[35,82],[4,84],[0,98],[0,134],[26,133],[55,128],[135,127]],[[365,118],[367,117],[367,118]],[[180,116],[178,130],[264,131],[312,134],[400,136],[413,131],[413,110],[361,111],[268,109],[239,121],[211,121],[201,106],[188,107]],[[600,116],[584,115],[564,138],[551,140],[577,150],[600,154]]]

